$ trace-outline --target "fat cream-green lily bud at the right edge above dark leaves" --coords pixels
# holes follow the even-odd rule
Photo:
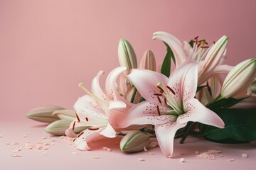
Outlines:
[[[236,65],[227,75],[221,96],[229,98],[241,94],[251,86],[256,77],[256,59],[248,59]]]

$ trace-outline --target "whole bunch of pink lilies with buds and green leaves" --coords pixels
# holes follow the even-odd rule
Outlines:
[[[223,64],[228,37],[213,45],[198,37],[183,43],[174,35],[156,32],[153,39],[166,45],[166,56],[156,68],[153,52],[144,52],[139,67],[132,45],[120,40],[120,67],[82,83],[85,96],[73,110],[42,106],[27,117],[50,123],[46,132],[73,137],[80,150],[92,141],[122,136],[123,152],[139,152],[156,138],[161,151],[171,157],[174,138],[188,135],[213,142],[245,143],[256,140],[256,59],[235,67]],[[175,66],[171,72],[171,65]]]

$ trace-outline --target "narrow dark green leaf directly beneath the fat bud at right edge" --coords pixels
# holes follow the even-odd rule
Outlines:
[[[245,98],[240,98],[240,99],[236,99],[236,98],[221,98],[218,101],[213,101],[211,103],[208,103],[208,105],[206,105],[206,107],[210,108],[210,109],[229,108],[231,106],[234,106],[236,103],[239,103],[243,99],[245,99]]]

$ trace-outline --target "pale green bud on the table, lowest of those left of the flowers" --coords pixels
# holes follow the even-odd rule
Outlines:
[[[53,123],[50,123],[46,127],[46,132],[50,133],[51,135],[55,136],[63,136],[65,135],[65,130],[67,130],[70,127],[70,123],[72,123],[73,120],[67,120],[67,119],[61,119],[56,120]],[[80,133],[82,130],[85,130],[87,127],[77,127],[74,129],[75,133]]]

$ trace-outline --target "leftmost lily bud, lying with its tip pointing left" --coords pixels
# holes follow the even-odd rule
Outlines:
[[[43,123],[52,123],[55,120],[59,120],[57,115],[53,115],[53,112],[63,109],[60,106],[41,106],[33,108],[26,114],[26,117]]]

